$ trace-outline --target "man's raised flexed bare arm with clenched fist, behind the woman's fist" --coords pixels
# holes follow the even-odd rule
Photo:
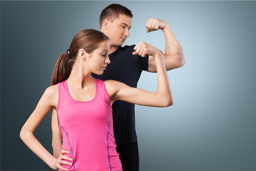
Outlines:
[[[161,29],[164,33],[166,40],[165,52],[163,53],[161,51],[161,53],[167,71],[182,67],[186,63],[182,46],[180,45],[180,42],[175,38],[171,28],[166,21],[150,18],[146,23],[146,28],[147,32]],[[148,59],[148,71],[156,72],[155,60],[152,56],[149,56]]]

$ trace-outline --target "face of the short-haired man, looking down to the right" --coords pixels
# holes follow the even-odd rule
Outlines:
[[[121,46],[129,35],[132,18],[119,14],[119,18],[108,23],[106,35],[110,38],[110,46]]]

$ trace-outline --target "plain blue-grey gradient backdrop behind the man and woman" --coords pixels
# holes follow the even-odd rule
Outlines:
[[[111,3],[134,15],[125,44],[164,51],[162,31],[145,28],[159,18],[186,57],[168,71],[173,106],[135,108],[140,170],[256,170],[256,1],[1,1],[0,170],[50,170],[20,140],[20,128],[58,56],[77,31],[99,30]],[[156,79],[143,72],[138,87],[155,91]],[[36,136],[52,152],[50,121],[49,114]]]

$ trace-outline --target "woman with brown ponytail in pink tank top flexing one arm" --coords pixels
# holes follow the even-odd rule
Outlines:
[[[97,80],[110,63],[108,37],[100,31],[83,29],[73,38],[70,48],[57,60],[52,86],[40,98],[36,109],[20,131],[22,141],[52,169],[57,160],[35,138],[34,131],[52,110],[57,111],[65,154],[72,158],[69,171],[121,171],[113,135],[112,108],[116,100],[134,104],[167,107],[173,104],[168,76],[161,53],[139,43],[133,54],[153,56],[157,65],[157,92],[132,88],[114,80]]]

